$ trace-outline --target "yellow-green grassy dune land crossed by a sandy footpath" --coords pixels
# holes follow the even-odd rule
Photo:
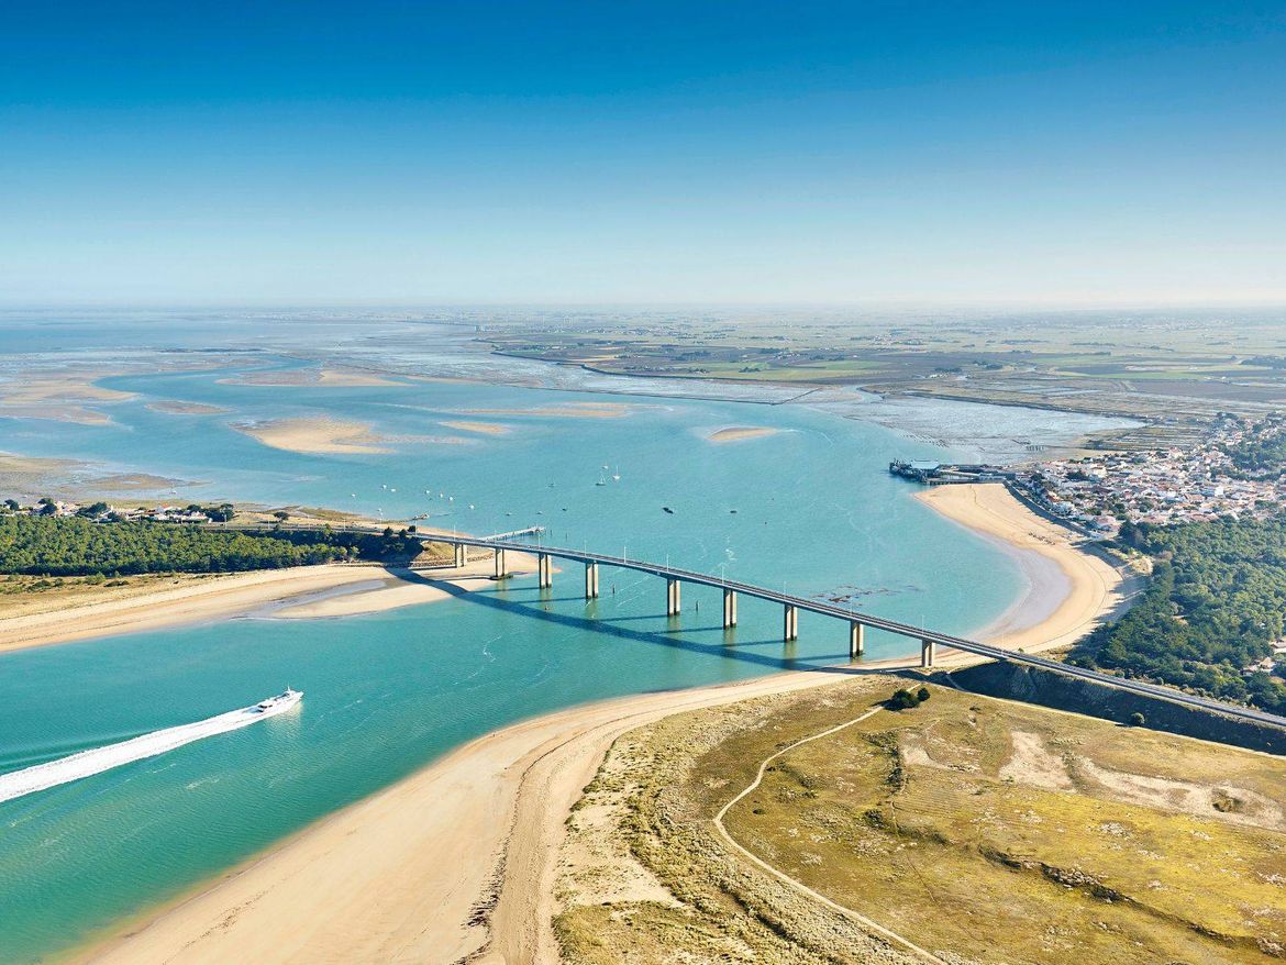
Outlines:
[[[895,686],[700,710],[620,741],[585,800],[617,803],[633,859],[678,902],[603,905],[592,881],[566,876],[557,925],[568,960],[670,961],[649,950],[671,942],[697,956],[750,948],[750,960],[768,962],[872,960],[873,939],[730,854],[711,818],[759,762]],[[729,834],[953,961],[1160,965],[1281,953],[1286,762],[931,694],[914,710],[881,710],[774,760],[728,812]],[[813,941],[827,933],[829,943]],[[774,946],[782,935],[788,952]]]

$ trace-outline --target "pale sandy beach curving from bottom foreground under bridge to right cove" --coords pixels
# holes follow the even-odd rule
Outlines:
[[[1123,606],[1128,582],[1002,486],[923,493],[935,511],[1007,547],[1030,589],[984,638],[1065,646]],[[981,493],[962,490],[985,489]],[[1038,562],[1039,561],[1039,562]],[[946,654],[943,664],[976,657]],[[550,928],[563,820],[611,744],[634,727],[715,706],[918,665],[787,672],[570,708],[464,744],[410,777],[144,912],[77,962],[557,961]]]

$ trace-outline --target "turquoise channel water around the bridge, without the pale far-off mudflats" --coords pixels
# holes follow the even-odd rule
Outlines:
[[[140,394],[109,407],[111,425],[0,419],[0,450],[206,482],[177,486],[171,499],[184,502],[428,512],[430,525],[473,533],[543,524],[553,543],[849,597],[948,632],[993,620],[1022,587],[1008,557],[885,472],[894,455],[949,453],[867,423],[801,407],[450,383],[256,387],[228,383],[230,374],[105,380]],[[157,399],[228,412],[158,413],[145,405]],[[586,401],[630,409],[532,414]],[[387,436],[468,441],[305,455],[229,426],[319,413]],[[460,418],[513,431],[441,425]],[[723,426],[781,432],[705,440]],[[621,481],[597,486],[603,464]],[[823,618],[805,614],[799,642],[783,646],[779,610],[757,601],[742,601],[741,625],[725,633],[714,591],[685,588],[678,620],[664,616],[662,584],[639,574],[604,570],[592,603],[579,591],[580,574],[568,571],[547,592],[518,579],[378,615],[244,618],[0,656],[0,771],[210,717],[285,685],[306,694],[297,715],[0,805],[0,960],[57,953],[500,724],[615,695],[846,663],[845,627]],[[868,646],[880,657],[907,642],[871,634]]]

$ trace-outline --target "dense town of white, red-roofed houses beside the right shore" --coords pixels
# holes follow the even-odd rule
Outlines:
[[[1264,519],[1286,506],[1286,476],[1256,479],[1238,471],[1229,453],[1250,437],[1263,440],[1264,426],[1219,419],[1191,449],[1040,462],[1017,472],[1013,485],[1051,513],[1105,537],[1115,535],[1127,521]]]

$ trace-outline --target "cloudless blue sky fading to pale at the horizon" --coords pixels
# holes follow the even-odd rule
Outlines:
[[[0,300],[1286,302],[1283,91],[1281,3],[5,4]]]

